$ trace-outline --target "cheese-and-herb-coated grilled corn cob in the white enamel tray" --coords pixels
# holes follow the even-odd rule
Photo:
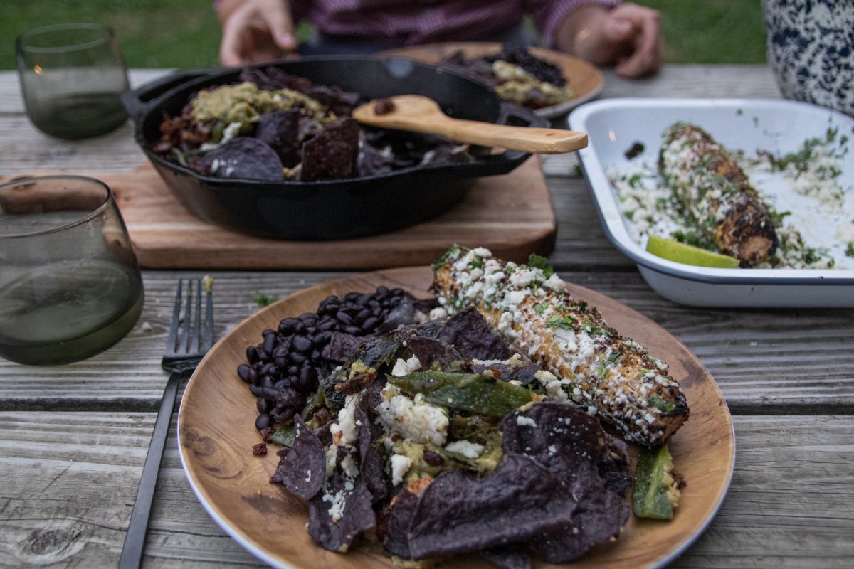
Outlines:
[[[771,258],[777,235],[768,207],[707,132],[681,122],[671,125],[664,131],[658,166],[685,211],[722,253],[748,265]]]

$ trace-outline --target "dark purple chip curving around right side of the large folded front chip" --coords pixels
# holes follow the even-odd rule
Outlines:
[[[619,534],[629,519],[628,457],[599,421],[574,405],[542,403],[507,415],[501,431],[506,455],[530,456],[578,497],[572,531],[532,537],[532,552],[549,563],[567,563]]]

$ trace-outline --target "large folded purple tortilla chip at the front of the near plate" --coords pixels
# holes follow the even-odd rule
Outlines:
[[[418,560],[567,531],[575,508],[575,496],[553,473],[528,456],[505,456],[483,479],[462,470],[440,474],[408,525],[399,520],[394,529],[406,531],[409,554]]]

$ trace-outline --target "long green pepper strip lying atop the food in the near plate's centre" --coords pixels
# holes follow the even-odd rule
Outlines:
[[[503,417],[534,400],[531,392],[522,386],[479,374],[428,370],[389,376],[388,380],[404,392],[423,393],[428,403],[478,415]]]

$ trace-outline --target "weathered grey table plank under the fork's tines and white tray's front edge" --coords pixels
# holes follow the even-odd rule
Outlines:
[[[341,275],[211,274],[218,336],[258,310],[254,293],[280,298]],[[685,342],[715,377],[734,412],[854,413],[854,310],[691,309],[659,297],[637,273],[559,274],[643,312]],[[147,271],[139,323],[96,357],[52,368],[0,360],[0,409],[156,409],[167,379],[160,359],[177,276]],[[151,326],[149,332],[143,331],[143,322]]]

